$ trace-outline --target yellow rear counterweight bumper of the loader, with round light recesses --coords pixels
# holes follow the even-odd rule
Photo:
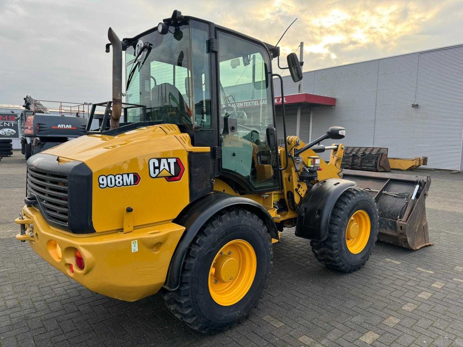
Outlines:
[[[25,225],[25,234],[16,235],[18,240],[27,241],[40,257],[88,289],[125,301],[147,297],[162,287],[185,230],[167,221],[125,234],[72,234],[51,227],[35,207],[25,206],[22,214],[24,219],[15,220]],[[76,265],[76,249],[84,259],[83,270]]]

